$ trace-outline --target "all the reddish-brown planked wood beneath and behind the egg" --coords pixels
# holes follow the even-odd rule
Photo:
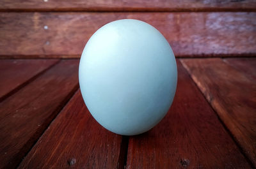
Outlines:
[[[255,1],[0,2],[0,168],[255,168]],[[163,121],[137,136],[84,105],[79,57],[100,26],[136,18],[177,57]]]

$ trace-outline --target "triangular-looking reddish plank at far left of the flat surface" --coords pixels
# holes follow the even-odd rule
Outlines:
[[[37,75],[51,68],[58,60],[1,60],[0,61],[0,101],[28,84]]]

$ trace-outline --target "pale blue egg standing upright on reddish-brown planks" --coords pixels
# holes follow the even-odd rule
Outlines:
[[[79,63],[86,107],[104,128],[138,135],[156,126],[172,105],[177,64],[156,28],[134,19],[100,27]]]

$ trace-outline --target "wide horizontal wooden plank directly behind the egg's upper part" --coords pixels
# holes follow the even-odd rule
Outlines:
[[[122,18],[155,26],[177,57],[256,54],[256,13],[0,13],[0,57],[80,57],[99,27]]]

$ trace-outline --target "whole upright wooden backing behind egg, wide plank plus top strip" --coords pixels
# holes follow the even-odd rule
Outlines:
[[[0,55],[79,58],[99,27],[135,18],[163,33],[177,57],[253,56],[255,6],[255,1],[4,0]]]

